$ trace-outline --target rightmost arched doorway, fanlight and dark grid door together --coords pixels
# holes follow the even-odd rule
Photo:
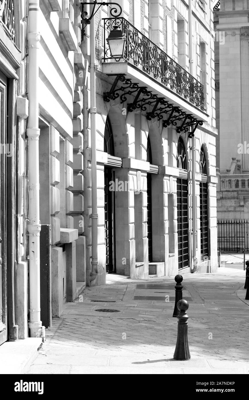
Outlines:
[[[207,163],[203,147],[200,154],[200,230],[201,230],[201,261],[209,256],[208,241],[208,191],[207,191]]]

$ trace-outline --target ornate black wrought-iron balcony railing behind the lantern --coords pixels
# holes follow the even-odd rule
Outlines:
[[[204,110],[204,88],[191,74],[169,57],[156,44],[131,25],[125,18],[104,19],[104,58],[111,59],[106,38],[108,31],[119,26],[126,37],[123,60],[133,64],[196,107]]]

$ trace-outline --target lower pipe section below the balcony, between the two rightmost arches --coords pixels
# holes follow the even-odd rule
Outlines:
[[[191,272],[197,272],[198,260],[196,256],[197,230],[196,230],[196,187],[195,187],[195,136],[192,136],[191,158],[192,158],[192,238],[193,238],[193,268]]]

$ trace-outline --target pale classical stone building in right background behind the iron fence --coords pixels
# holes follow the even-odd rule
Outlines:
[[[249,219],[249,2],[218,3],[214,26],[224,40],[215,42],[217,218],[220,246],[237,251],[248,246],[247,225],[231,221]]]

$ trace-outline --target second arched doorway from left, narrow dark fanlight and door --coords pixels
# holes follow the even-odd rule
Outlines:
[[[149,136],[147,139],[147,162],[152,164],[152,153]],[[151,174],[147,173],[147,238],[148,238],[148,260],[152,262],[152,190]]]

